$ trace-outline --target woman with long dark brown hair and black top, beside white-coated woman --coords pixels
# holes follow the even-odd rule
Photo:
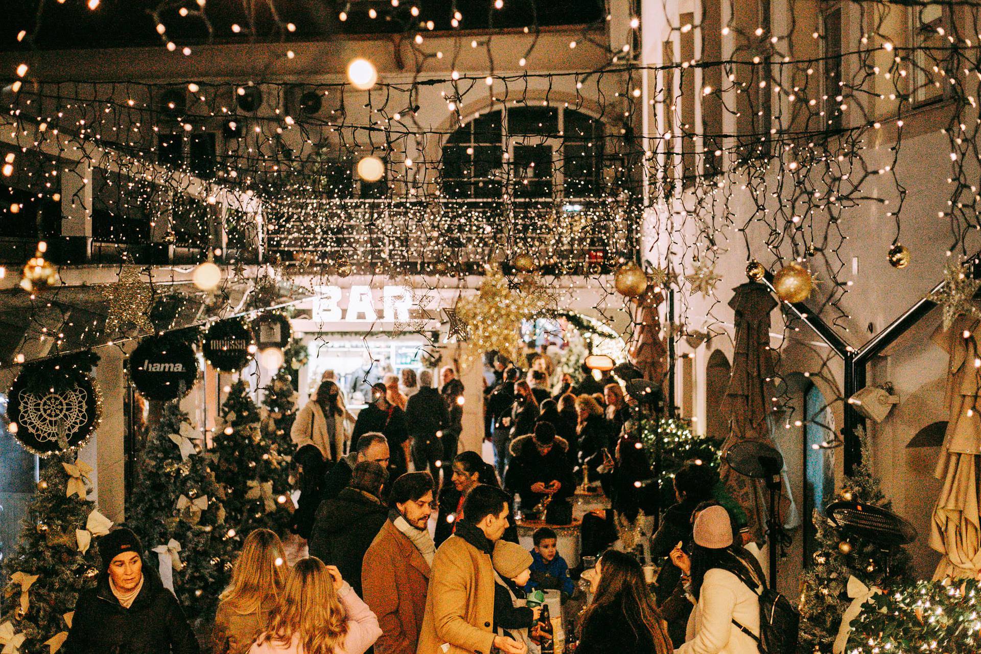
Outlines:
[[[644,569],[632,555],[606,550],[585,575],[594,593],[583,613],[579,654],[671,654],[671,638]]]

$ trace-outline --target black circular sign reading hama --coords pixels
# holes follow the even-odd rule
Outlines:
[[[197,357],[183,341],[143,339],[129,354],[129,377],[147,400],[176,400],[187,395],[197,379]]]

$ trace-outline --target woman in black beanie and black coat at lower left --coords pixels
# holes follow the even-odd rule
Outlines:
[[[102,574],[78,595],[66,654],[198,654],[177,598],[143,565],[143,547],[126,528],[99,539]]]

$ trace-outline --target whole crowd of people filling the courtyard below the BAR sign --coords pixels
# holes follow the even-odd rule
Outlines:
[[[746,515],[717,475],[687,463],[675,476],[676,502],[648,542],[651,559],[669,563],[652,581],[635,553],[611,547],[614,519],[657,506],[655,488],[642,483],[652,470],[631,436],[631,399],[612,379],[574,387],[561,376],[550,388],[546,359],[530,358],[524,372],[493,360],[492,463],[458,452],[464,388],[452,368],[440,371],[439,390],[427,370],[385,378],[357,416],[328,375],[292,428],[302,470],[293,530],[308,556],[287,561],[277,534],[248,534],[211,651],[761,651],[764,576],[743,547]],[[570,570],[549,526],[535,531],[531,551],[518,544],[518,513],[569,524],[577,489],[591,484],[610,501],[582,520],[582,553],[599,555],[594,567]],[[65,651],[200,651],[136,537],[117,528],[98,547],[102,574],[79,596]],[[542,590],[583,607],[572,627],[543,618]]]

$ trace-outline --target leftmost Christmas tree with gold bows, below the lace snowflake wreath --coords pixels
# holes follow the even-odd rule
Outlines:
[[[6,631],[4,644],[13,643],[15,652],[57,651],[78,593],[95,585],[100,564],[93,536],[106,533],[112,522],[86,499],[91,471],[68,454],[42,462],[17,550],[4,562],[0,633]]]

